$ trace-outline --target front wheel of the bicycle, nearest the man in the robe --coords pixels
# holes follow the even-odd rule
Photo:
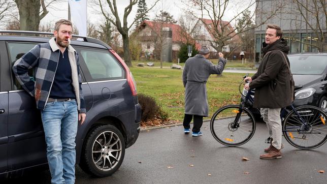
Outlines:
[[[213,114],[210,130],[213,137],[221,144],[240,146],[252,138],[255,121],[248,109],[240,109],[238,105],[227,105]]]

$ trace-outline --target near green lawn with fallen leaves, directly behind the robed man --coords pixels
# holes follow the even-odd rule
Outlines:
[[[136,65],[134,65],[136,66]],[[130,67],[137,83],[138,93],[153,97],[169,114],[169,119],[183,121],[184,86],[182,70]],[[239,104],[238,86],[244,74],[223,73],[211,75],[207,82],[209,117],[220,107]]]

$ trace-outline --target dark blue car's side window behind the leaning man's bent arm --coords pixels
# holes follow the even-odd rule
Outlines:
[[[32,49],[36,44],[35,43],[8,43],[8,51],[10,55],[11,67],[14,66],[17,59],[21,58],[25,53],[27,53],[30,49]],[[31,78],[33,77],[33,70],[28,70],[28,75]],[[14,90],[23,89],[19,84],[18,80],[13,74],[14,81]]]

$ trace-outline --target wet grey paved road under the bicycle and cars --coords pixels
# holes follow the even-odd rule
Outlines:
[[[326,183],[327,144],[308,151],[283,140],[282,159],[260,160],[259,154],[268,146],[265,124],[258,122],[253,138],[240,147],[219,144],[208,126],[204,122],[201,137],[184,135],[181,126],[142,131],[136,144],[126,149],[114,175],[93,178],[77,167],[76,183]],[[49,180],[49,172],[42,171],[9,181]]]

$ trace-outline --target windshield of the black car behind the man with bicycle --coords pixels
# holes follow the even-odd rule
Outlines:
[[[319,75],[327,66],[325,55],[290,55],[288,59],[292,74]]]

